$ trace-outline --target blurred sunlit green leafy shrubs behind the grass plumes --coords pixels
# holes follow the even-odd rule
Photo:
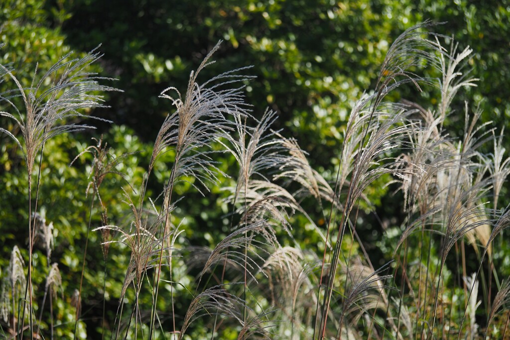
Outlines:
[[[469,65],[471,74],[479,78],[478,87],[457,96],[453,107],[458,110],[451,112],[449,124],[459,126],[460,130],[464,100],[470,98],[471,104],[483,111],[483,121],[494,121],[498,127],[508,125],[510,3],[507,1],[2,1],[0,38],[5,46],[0,50],[0,63],[11,64],[23,85],[30,84],[36,64],[45,70],[71,50],[83,55],[102,43],[100,50],[105,55],[91,71],[118,79],[114,86],[124,91],[108,95],[107,104],[111,108],[92,113],[114,121],[114,125],[100,122],[94,132],[60,136],[45,147],[38,212],[52,221],[57,230],[52,261],[59,263],[63,275],[63,298],[57,299],[56,308],[62,320],[68,322],[56,328],[58,336],[72,336],[74,310],[70,300],[79,284],[90,204],[90,196],[86,196],[90,159],[85,156],[72,166],[69,164],[94,143],[91,137],[103,134],[116,155],[135,152],[117,169],[126,178],[109,176],[103,188],[103,200],[111,218],[121,220],[126,207],[120,202],[119,189],[131,190],[128,183],[141,182],[152,140],[166,114],[173,109],[158,95],[168,86],[185,89],[189,72],[223,39],[215,55],[217,62],[204,70],[201,77],[205,80],[222,71],[253,65],[249,74],[257,79],[247,85],[246,91],[254,115],[260,117],[266,107],[276,110],[280,118],[275,127],[282,128],[285,136],[295,137],[310,153],[315,169],[326,178],[331,177],[337,165],[333,160],[340,152],[340,133],[353,102],[376,81],[393,39],[425,19],[445,22],[435,31],[454,36],[460,49],[469,45],[474,50]],[[9,88],[12,85],[8,81],[0,84],[1,92]],[[430,92],[410,91],[395,96],[395,99],[412,97],[425,108],[435,104]],[[8,124],[1,118],[0,123]],[[509,137],[505,137],[505,144],[510,145]],[[28,239],[24,222],[29,219],[25,208],[27,178],[22,162],[20,150],[7,136],[0,135],[0,268],[3,270],[13,245],[26,245]],[[232,164],[233,160],[224,159],[222,170],[228,172]],[[167,171],[164,165],[156,169],[156,179],[149,183],[149,189],[159,188],[162,183],[158,178],[164,178]],[[216,227],[217,221],[227,213],[220,200],[222,193],[213,188],[211,194],[202,197],[185,185],[176,190],[187,193],[187,200],[185,207],[180,207],[185,211],[178,210],[175,218],[193,217],[180,221],[189,243],[216,244],[226,233]],[[372,260],[380,265],[391,258],[393,251],[391,238],[385,239],[386,243],[378,240],[385,228],[391,231],[399,225],[393,203],[397,199],[388,189],[377,186],[368,195],[373,204],[364,207],[360,218],[365,223],[360,227],[360,235]],[[313,210],[314,207],[307,207],[307,211]],[[95,216],[93,226],[99,226],[98,214]],[[317,223],[321,224],[320,217]],[[321,248],[313,232],[304,228],[296,228],[295,232],[299,235],[296,239],[303,240],[303,248]],[[99,320],[94,318],[100,313],[103,296],[100,284],[103,255],[99,242],[99,235],[92,233],[83,291],[82,338],[93,338],[100,327]],[[27,249],[22,252],[26,255]],[[510,274],[508,254],[510,249],[503,244],[494,255],[506,275]],[[109,317],[113,320],[129,258],[120,250],[112,251],[110,256],[115,266],[108,270],[107,295]],[[38,270],[46,268],[41,249],[36,265]],[[43,278],[36,276],[35,283],[44,284]],[[186,298],[179,303],[186,305]],[[195,336],[199,332],[197,328]]]

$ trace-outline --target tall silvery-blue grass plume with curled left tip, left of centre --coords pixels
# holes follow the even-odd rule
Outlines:
[[[172,148],[175,151],[173,178],[192,176],[202,185],[216,182],[215,172],[219,171],[206,151],[200,151],[211,142],[228,136],[234,129],[229,116],[249,116],[249,106],[244,102],[244,82],[252,76],[239,75],[243,67],[224,72],[198,85],[200,71],[214,63],[209,61],[218,50],[221,41],[209,52],[195,72],[191,72],[185,97],[179,90],[169,87],[160,97],[171,100],[176,111],[168,115],[156,138],[149,162],[149,173],[161,154]],[[177,96],[169,93],[174,91]],[[207,188],[207,187],[206,187]]]

